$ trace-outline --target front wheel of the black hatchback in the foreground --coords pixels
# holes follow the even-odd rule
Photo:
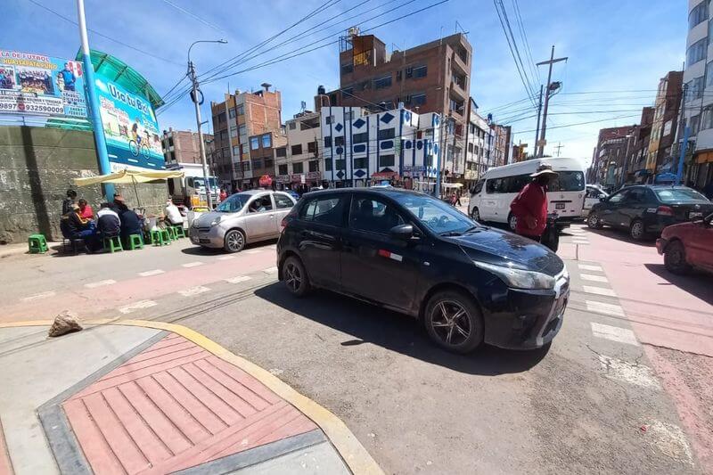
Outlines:
[[[469,353],[483,341],[483,316],[476,302],[461,291],[439,291],[426,305],[426,332],[439,347]]]

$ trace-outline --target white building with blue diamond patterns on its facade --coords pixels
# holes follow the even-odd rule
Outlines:
[[[403,105],[370,113],[361,107],[322,107],[324,180],[331,187],[389,181],[429,189],[440,160],[441,117]]]

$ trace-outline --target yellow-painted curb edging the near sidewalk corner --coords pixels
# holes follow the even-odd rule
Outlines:
[[[49,326],[52,325],[52,323],[52,320],[30,320],[27,322],[0,323],[0,328]],[[366,451],[361,442],[359,442],[351,430],[348,429],[347,424],[342,422],[339,417],[309,397],[299,394],[298,391],[292,389],[291,386],[277,378],[274,374],[269,373],[257,364],[251,363],[241,356],[231,353],[199,332],[195,332],[183,325],[176,325],[175,323],[152,322],[148,320],[102,318],[82,320],[81,323],[92,326],[106,324],[139,326],[165,330],[181,335],[186,340],[193,341],[193,343],[204,348],[206,351],[225,360],[227,363],[234,364],[245,373],[250,374],[250,376],[260,381],[268,389],[275,392],[277,396],[282,397],[285,401],[296,407],[302,414],[305,414],[309,419],[315,422],[332,442],[332,445],[337,449],[337,452],[339,452],[344,462],[347,463],[352,473],[356,475],[383,475],[384,473],[381,467],[373,460],[372,455]]]

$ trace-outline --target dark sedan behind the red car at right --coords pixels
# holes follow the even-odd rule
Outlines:
[[[586,224],[626,229],[641,241],[659,236],[666,226],[693,221],[713,212],[713,203],[686,186],[643,184],[622,188],[592,207]]]

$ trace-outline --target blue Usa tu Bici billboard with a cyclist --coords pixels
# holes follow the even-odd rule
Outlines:
[[[95,73],[102,125],[111,171],[123,168],[163,169],[159,124],[152,105],[119,84]]]

